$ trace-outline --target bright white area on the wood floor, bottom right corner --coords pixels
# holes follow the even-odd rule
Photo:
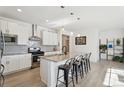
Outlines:
[[[124,70],[108,68],[105,74],[103,85],[110,87],[124,87]]]

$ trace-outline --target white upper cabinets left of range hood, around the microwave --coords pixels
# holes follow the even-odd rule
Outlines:
[[[28,39],[32,35],[31,24],[23,22],[11,22],[0,19],[0,30],[4,34],[17,35],[17,43],[19,45],[28,45]]]

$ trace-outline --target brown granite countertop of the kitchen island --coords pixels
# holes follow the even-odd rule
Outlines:
[[[77,55],[76,54],[67,54],[67,55],[56,54],[56,55],[50,55],[50,56],[43,56],[41,58],[46,59],[46,60],[50,60],[50,61],[53,61],[53,62],[59,62],[59,61],[67,60],[69,58],[73,58],[75,56],[77,56]]]

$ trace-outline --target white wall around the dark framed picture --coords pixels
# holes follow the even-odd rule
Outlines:
[[[86,45],[75,45],[75,37],[81,34],[81,36],[86,36]],[[79,33],[74,33],[72,37],[71,51],[74,53],[80,52],[91,52],[91,62],[97,62],[99,59],[99,34],[97,29],[86,29],[79,31]]]

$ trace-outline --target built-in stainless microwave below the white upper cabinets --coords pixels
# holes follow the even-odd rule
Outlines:
[[[17,44],[17,35],[4,34],[5,44]]]

